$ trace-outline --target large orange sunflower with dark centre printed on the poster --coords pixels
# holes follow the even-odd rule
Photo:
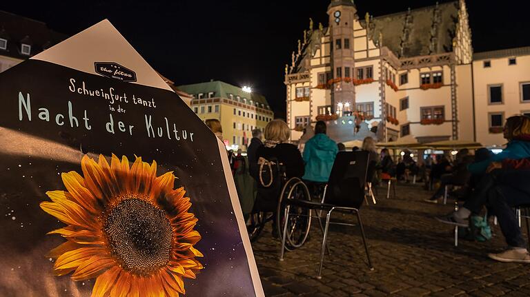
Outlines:
[[[49,234],[66,238],[50,251],[57,276],[95,278],[96,296],[179,296],[183,278],[195,278],[203,255],[194,245],[197,218],[175,175],[157,176],[157,164],[112,155],[110,165],[81,160],[83,175],[61,175],[67,191],[46,194],[41,208],[67,226]]]

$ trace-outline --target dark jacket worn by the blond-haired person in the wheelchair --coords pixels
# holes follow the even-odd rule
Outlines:
[[[256,165],[260,157],[267,160],[275,157],[278,161],[284,163],[287,178],[302,177],[304,175],[302,155],[297,147],[291,143],[279,143],[275,147],[262,145],[256,150]]]

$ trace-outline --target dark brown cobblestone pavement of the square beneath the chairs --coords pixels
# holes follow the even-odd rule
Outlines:
[[[530,296],[530,265],[498,263],[488,252],[504,248],[498,226],[485,243],[460,240],[454,247],[453,227],[434,216],[448,214],[448,205],[424,203],[429,192],[418,185],[398,185],[397,198],[383,198],[361,209],[369,251],[370,271],[358,227],[332,225],[322,279],[316,269],[322,234],[313,221],[310,238],[279,262],[279,240],[270,223],[253,243],[266,296]],[[355,221],[335,214],[333,218]]]

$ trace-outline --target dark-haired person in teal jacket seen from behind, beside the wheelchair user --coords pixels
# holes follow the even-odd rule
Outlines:
[[[309,139],[304,147],[306,170],[302,178],[306,181],[327,183],[337,152],[337,143],[326,135],[326,123],[317,121],[315,136]]]

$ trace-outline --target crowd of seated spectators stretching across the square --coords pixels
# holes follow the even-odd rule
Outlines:
[[[217,136],[222,129],[217,123],[206,123]],[[239,151],[229,152],[230,164],[244,214],[250,214],[256,207],[275,212],[277,197],[259,197],[264,183],[260,172],[266,163],[281,165],[284,177],[302,178],[317,195],[329,178],[335,156],[346,150],[342,143],[335,143],[326,135],[326,123],[318,121],[315,129],[308,125],[298,145],[289,142],[290,129],[279,119],[269,122],[264,132],[253,130],[253,138],[247,149],[246,158]],[[264,139],[262,139],[264,136]],[[395,178],[403,183],[424,181],[426,189],[434,190],[427,203],[438,203],[446,195],[446,187],[453,187],[451,196],[464,201],[458,211],[437,218],[442,223],[470,227],[473,216],[486,212],[495,216],[509,248],[489,257],[502,262],[530,263],[521,229],[513,207],[530,206],[530,184],[524,182],[530,177],[530,118],[511,116],[504,125],[507,147],[499,154],[492,154],[481,148],[474,154],[462,149],[451,158],[450,154],[426,156],[420,164],[413,160],[413,154],[404,151],[395,162],[389,150],[383,148],[377,153],[375,141],[366,137],[362,147],[353,150],[369,152],[367,181],[377,184],[380,180]],[[271,161],[273,160],[273,162]],[[244,177],[243,177],[244,176]],[[271,176],[272,178],[272,176]],[[435,187],[436,186],[436,187]],[[435,189],[433,189],[435,187]],[[271,205],[259,205],[259,203]],[[273,235],[277,235],[273,222]]]

